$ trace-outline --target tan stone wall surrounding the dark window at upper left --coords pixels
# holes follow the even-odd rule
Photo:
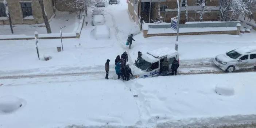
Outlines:
[[[0,0],[0,1],[3,1],[3,0]],[[44,23],[42,13],[41,13],[41,7],[38,0],[32,0],[31,2],[32,14],[34,19],[23,19],[20,2],[25,2],[25,1],[31,2],[31,0],[7,0],[9,5],[9,13],[12,19],[12,24]],[[53,16],[53,5],[51,0],[44,0],[44,6],[45,6],[48,19],[50,19]],[[9,20],[0,20],[0,25],[5,25],[5,24],[9,24]]]

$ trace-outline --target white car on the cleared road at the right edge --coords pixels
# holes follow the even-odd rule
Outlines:
[[[217,55],[213,62],[226,72],[256,68],[256,46],[241,47],[226,54]]]

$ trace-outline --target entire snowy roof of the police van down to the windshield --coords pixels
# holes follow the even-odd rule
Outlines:
[[[154,62],[156,59],[164,56],[176,56],[178,51],[169,48],[161,48],[153,51],[148,51],[146,54],[142,54],[142,58],[147,62]]]

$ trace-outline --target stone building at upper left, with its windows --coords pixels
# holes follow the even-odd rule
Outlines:
[[[43,0],[48,19],[51,19],[56,9],[60,11],[74,11],[67,7],[63,0]],[[69,1],[69,0],[66,0]],[[38,0],[7,0],[12,24],[44,23],[41,6]],[[9,24],[5,13],[3,0],[0,0],[0,25]]]

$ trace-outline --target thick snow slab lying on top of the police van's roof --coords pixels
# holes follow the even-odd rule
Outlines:
[[[150,54],[155,58],[161,58],[161,57],[164,57],[164,56],[177,55],[178,51],[165,47],[165,48],[156,49],[156,50],[153,50],[153,51],[148,51],[147,54]]]

